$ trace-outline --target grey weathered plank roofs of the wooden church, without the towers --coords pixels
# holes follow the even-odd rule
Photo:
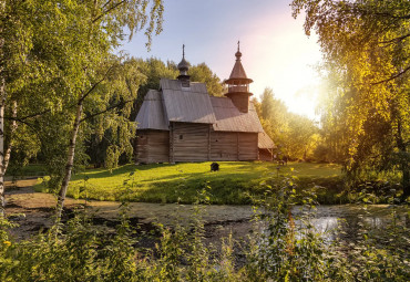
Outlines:
[[[139,129],[168,130],[170,122],[184,122],[212,124],[216,132],[264,132],[252,102],[242,113],[230,98],[209,96],[203,83],[182,87],[180,81],[166,79],[160,91],[148,91],[135,122]]]

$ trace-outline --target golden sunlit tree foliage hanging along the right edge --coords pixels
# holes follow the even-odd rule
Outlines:
[[[294,0],[324,52],[324,137],[347,176],[402,171],[410,196],[410,6],[407,0]]]

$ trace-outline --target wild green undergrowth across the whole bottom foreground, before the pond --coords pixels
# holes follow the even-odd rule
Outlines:
[[[156,246],[136,248],[143,233],[129,221],[123,203],[115,233],[104,233],[80,212],[64,226],[27,241],[12,241],[0,221],[2,281],[408,281],[409,230],[391,207],[388,226],[361,226],[359,240],[325,239],[311,219],[315,190],[297,192],[296,178],[260,184],[254,198],[254,228],[234,242],[232,236],[207,243],[202,215],[209,185],[198,187],[188,224],[157,226]],[[295,205],[305,200],[300,212]],[[366,206],[362,206],[366,209]],[[365,221],[366,222],[366,221]],[[218,247],[216,247],[218,246]],[[240,246],[240,248],[238,248]],[[238,263],[237,255],[245,259]]]

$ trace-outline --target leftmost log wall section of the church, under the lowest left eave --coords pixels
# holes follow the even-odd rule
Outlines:
[[[137,130],[135,161],[141,164],[167,163],[170,160],[170,132]]]

